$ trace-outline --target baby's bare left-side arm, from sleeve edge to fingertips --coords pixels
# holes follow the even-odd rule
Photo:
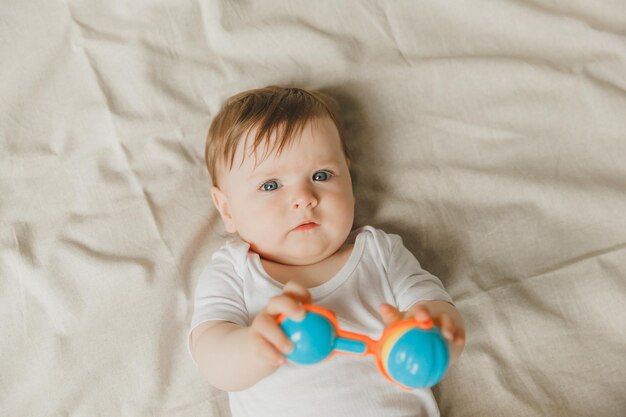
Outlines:
[[[309,302],[306,288],[289,283],[249,327],[226,321],[196,327],[191,333],[191,353],[209,383],[224,391],[241,391],[274,373],[285,363],[280,352],[293,349],[275,316],[301,320],[305,314],[302,303]]]

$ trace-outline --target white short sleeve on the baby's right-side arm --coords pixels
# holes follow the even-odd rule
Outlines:
[[[390,244],[389,284],[398,310],[407,311],[416,302],[424,300],[452,303],[452,298],[439,278],[422,269],[415,256],[402,243],[402,238],[393,234],[387,236]]]

